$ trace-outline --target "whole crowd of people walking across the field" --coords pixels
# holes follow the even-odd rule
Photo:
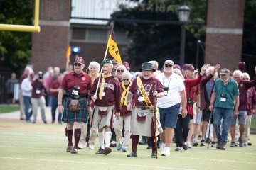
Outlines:
[[[252,145],[256,67],[252,80],[245,62],[234,72],[220,64],[203,64],[199,70],[172,60],[158,67],[158,62],[149,61],[139,72],[130,72],[128,62],[105,59],[90,62],[85,72],[82,57],[63,73],[49,67],[45,74],[35,74],[28,66],[20,79],[21,120],[30,123],[33,115],[36,123],[39,107],[47,123],[45,107],[50,106],[52,123],[56,111],[58,123],[66,123],[66,152],[72,154],[95,149],[97,139],[95,154],[110,154],[113,147],[128,152],[131,139],[127,157],[138,157],[137,146],[147,144],[152,158],[158,157],[158,148],[159,155],[169,156],[173,143],[176,152],[206,145],[225,150],[228,142],[230,147]]]

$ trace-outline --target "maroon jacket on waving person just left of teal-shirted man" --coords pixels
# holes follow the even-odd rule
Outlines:
[[[201,102],[201,111],[206,110],[209,108],[210,105],[210,101],[207,97],[207,92],[206,92],[206,84],[208,81],[210,81],[210,79],[213,78],[213,74],[208,75],[208,77],[206,77],[205,79],[202,79],[200,82],[200,102]],[[214,86],[214,84],[213,84]],[[213,93],[213,91],[211,92],[211,94]]]

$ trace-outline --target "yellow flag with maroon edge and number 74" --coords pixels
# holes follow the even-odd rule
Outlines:
[[[110,38],[107,41],[107,46],[109,47],[109,52],[112,57],[119,62],[119,64],[122,64],[121,56],[119,53],[119,49],[117,47],[117,42],[114,37],[114,30],[112,28]]]

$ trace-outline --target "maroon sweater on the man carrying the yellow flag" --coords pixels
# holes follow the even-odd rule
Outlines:
[[[96,94],[97,83],[99,77],[97,77],[92,85],[92,90],[90,91],[90,98]],[[100,78],[100,82],[102,77]],[[95,105],[97,106],[113,106],[115,105],[115,111],[120,112],[120,100],[121,100],[121,90],[120,84],[117,79],[114,79],[113,76],[105,78],[105,96],[102,97],[102,100],[99,99],[100,86],[97,91],[97,99]]]

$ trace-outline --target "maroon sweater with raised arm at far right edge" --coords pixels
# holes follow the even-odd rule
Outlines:
[[[256,74],[252,81],[241,80],[238,84],[239,89],[239,107],[238,111],[246,111],[247,110],[247,90],[256,86]]]

